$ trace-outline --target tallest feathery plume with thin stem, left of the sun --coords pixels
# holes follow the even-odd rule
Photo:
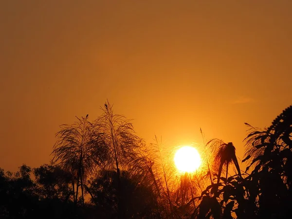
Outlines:
[[[130,120],[125,116],[114,114],[112,105],[107,101],[104,105],[103,114],[94,121],[96,132],[101,133],[102,140],[107,146],[107,160],[105,166],[109,170],[115,169],[117,175],[119,218],[124,217],[123,201],[121,196],[120,171],[128,169],[128,164],[138,156],[138,149],[143,140],[139,138]]]

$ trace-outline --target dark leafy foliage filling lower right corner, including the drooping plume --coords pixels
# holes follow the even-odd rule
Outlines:
[[[220,177],[223,162],[234,161],[235,148],[226,156],[219,155],[228,144],[216,147],[215,164],[219,164],[218,182],[201,194],[198,218],[214,219],[288,219],[292,204],[292,106],[284,110],[269,128],[261,130],[246,124],[246,152],[243,162],[246,174]],[[219,156],[218,156],[219,155]],[[236,164],[236,162],[235,162]],[[237,164],[236,164],[237,166]],[[227,171],[227,168],[226,168]],[[247,171],[251,171],[250,174]],[[196,213],[196,211],[194,212]]]

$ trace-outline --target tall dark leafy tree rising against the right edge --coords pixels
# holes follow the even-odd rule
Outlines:
[[[247,180],[256,191],[259,218],[290,218],[292,204],[292,106],[283,110],[269,128],[248,125],[246,141]]]

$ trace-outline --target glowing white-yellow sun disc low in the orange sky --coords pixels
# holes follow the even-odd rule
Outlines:
[[[195,172],[201,165],[198,150],[192,146],[180,147],[174,155],[174,163],[180,172]]]

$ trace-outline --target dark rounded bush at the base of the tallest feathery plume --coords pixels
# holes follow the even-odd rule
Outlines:
[[[101,171],[88,185],[92,193],[91,202],[101,211],[100,218],[116,218],[118,216],[117,173]],[[159,215],[156,196],[148,184],[143,184],[139,176],[133,176],[128,171],[121,171],[120,194],[124,201],[124,218],[156,218]]]

